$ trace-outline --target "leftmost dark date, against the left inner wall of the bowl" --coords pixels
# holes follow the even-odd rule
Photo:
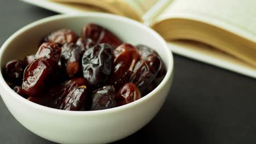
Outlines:
[[[3,69],[4,76],[11,82],[20,85],[23,79],[23,73],[26,68],[26,62],[13,60],[5,64]]]

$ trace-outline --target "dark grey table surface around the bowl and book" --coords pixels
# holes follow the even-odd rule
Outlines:
[[[51,11],[0,0],[0,45]],[[256,23],[255,23],[256,25]],[[174,79],[155,118],[114,143],[256,143],[256,80],[174,55]],[[54,143],[23,127],[0,98],[0,143]]]

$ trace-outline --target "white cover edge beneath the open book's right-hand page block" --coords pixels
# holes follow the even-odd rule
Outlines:
[[[234,71],[235,73],[256,79],[256,68],[219,51],[215,47],[197,43],[195,41],[174,40],[167,43],[173,53],[208,63],[219,68]]]

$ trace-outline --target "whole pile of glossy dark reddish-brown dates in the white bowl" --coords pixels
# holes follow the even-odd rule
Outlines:
[[[8,85],[21,97],[60,110],[110,109],[132,103],[159,85],[166,70],[158,53],[124,43],[90,23],[46,35],[36,55],[5,64]]]

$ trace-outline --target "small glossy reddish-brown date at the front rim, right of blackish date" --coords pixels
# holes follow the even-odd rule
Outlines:
[[[126,83],[117,93],[117,106],[132,103],[141,98],[141,92],[134,83]]]

